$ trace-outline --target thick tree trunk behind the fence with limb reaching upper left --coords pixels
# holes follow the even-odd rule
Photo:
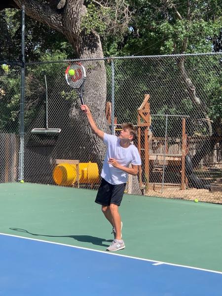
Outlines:
[[[50,6],[50,4],[39,3],[36,0],[14,0],[14,2],[20,8],[24,4],[25,12],[30,17],[63,33],[73,45],[74,52],[79,59],[103,58],[99,35],[95,32],[86,35],[84,30],[80,28],[81,18],[87,12],[86,7],[83,5],[83,0],[66,0],[61,13],[53,9],[53,6]],[[102,60],[83,61],[82,63],[86,68],[86,82],[83,90],[84,102],[92,111],[98,127],[105,132],[109,132],[109,126],[105,116],[107,91],[105,63]],[[85,161],[88,161],[87,158],[90,157],[90,160],[97,162],[99,168],[101,168],[105,156],[105,145],[95,136],[92,136],[86,116],[79,107],[74,106],[70,111],[70,116],[73,119],[74,127],[76,127],[74,140],[78,141],[79,148],[84,147],[84,154],[86,154]],[[88,136],[88,141],[86,140],[86,135]],[[72,141],[74,140],[72,139]],[[59,147],[56,150],[59,150]]]

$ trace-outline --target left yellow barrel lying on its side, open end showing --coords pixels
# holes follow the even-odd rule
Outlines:
[[[57,185],[73,185],[76,179],[76,164],[58,164],[53,171],[52,177]]]

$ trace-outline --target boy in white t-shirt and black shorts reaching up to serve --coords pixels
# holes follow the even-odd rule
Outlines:
[[[102,205],[102,212],[112,225],[114,240],[107,250],[118,251],[125,248],[118,207],[122,201],[128,174],[136,176],[141,165],[139,151],[131,144],[136,138],[136,129],[131,123],[123,123],[119,137],[106,134],[96,126],[87,105],[81,105],[81,110],[86,113],[93,133],[107,145],[101,173],[102,182],[95,202]],[[130,163],[132,168],[129,168]]]

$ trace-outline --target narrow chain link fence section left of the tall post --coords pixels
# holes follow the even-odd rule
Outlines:
[[[20,68],[0,65],[0,183],[18,175]]]

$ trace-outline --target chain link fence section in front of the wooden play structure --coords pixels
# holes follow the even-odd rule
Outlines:
[[[115,61],[117,122],[141,126],[144,194],[222,202],[221,74],[221,54]]]

